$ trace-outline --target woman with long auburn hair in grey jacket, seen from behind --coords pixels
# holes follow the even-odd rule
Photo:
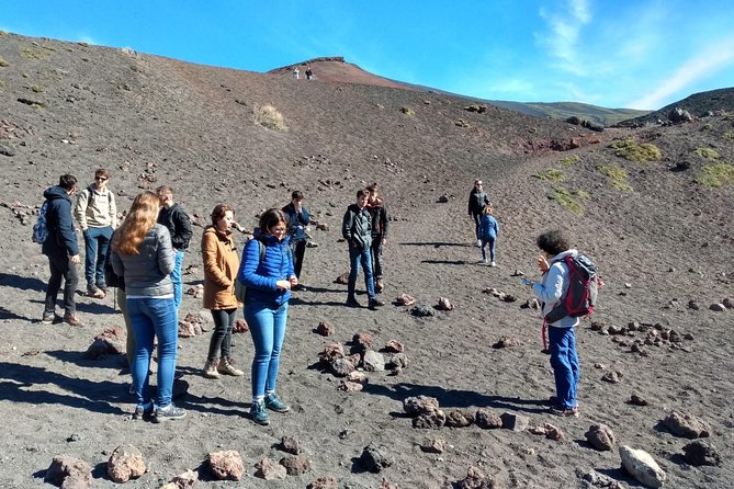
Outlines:
[[[178,348],[178,312],[169,277],[174,254],[168,229],[156,223],[159,208],[156,194],[138,194],[112,241],[112,269],[125,278],[127,312],[135,333],[131,369],[137,406],[133,418],[155,414],[156,422],[180,419],[187,413],[171,402]],[[156,337],[158,396],[154,403],[148,366]]]

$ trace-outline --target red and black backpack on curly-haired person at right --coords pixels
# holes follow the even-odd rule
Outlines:
[[[563,260],[568,266],[568,291],[566,296],[545,315],[547,323],[566,316],[572,318],[588,316],[597,304],[599,288],[597,265],[581,253],[576,257],[565,257]]]

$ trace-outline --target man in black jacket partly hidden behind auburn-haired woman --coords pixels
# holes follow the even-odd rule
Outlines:
[[[181,266],[183,265],[184,250],[189,248],[189,241],[193,236],[191,229],[191,219],[181,206],[173,202],[173,189],[168,185],[161,185],[156,189],[160,200],[160,214],[158,214],[158,224],[168,228],[171,234],[171,244],[176,252],[176,266],[171,272],[171,282],[173,282],[173,302],[178,309],[183,298],[183,283],[181,281]]]

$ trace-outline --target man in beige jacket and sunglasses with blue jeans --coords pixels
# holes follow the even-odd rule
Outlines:
[[[104,260],[108,255],[112,231],[117,227],[115,195],[108,189],[110,172],[100,168],[94,172],[94,183],[79,193],[74,209],[84,237],[84,277],[87,295],[101,299],[108,285],[104,282]]]

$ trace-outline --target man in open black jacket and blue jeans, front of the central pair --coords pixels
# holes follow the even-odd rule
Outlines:
[[[360,264],[364,269],[364,285],[368,289],[369,307],[374,309],[384,306],[385,303],[379,300],[374,295],[374,282],[372,277],[372,257],[370,247],[372,246],[372,225],[370,212],[366,209],[370,192],[365,189],[357,192],[357,203],[350,205],[345,213],[341,221],[341,236],[349,244],[349,283],[347,306],[360,307],[354,297],[357,286],[357,275],[360,273]]]

